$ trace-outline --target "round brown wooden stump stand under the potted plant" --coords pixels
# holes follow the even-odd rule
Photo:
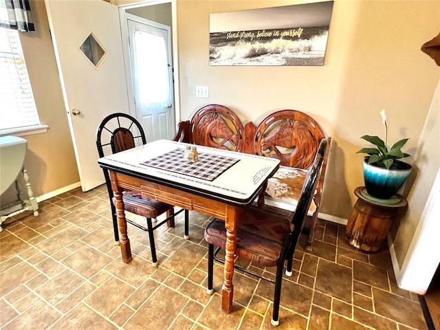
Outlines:
[[[395,203],[381,203],[362,194],[364,187],[355,189],[358,197],[351,211],[345,238],[354,248],[362,252],[379,252],[399,208],[406,206],[404,197],[396,195]]]

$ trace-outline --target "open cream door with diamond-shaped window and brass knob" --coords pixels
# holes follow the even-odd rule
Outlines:
[[[118,7],[102,0],[45,4],[81,186],[87,191],[104,183],[96,129],[109,113],[129,112]]]

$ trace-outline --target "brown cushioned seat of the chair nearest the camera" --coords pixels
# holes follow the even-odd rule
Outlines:
[[[240,217],[236,234],[236,254],[259,267],[276,266],[291,218],[261,208],[246,208]],[[214,219],[205,230],[208,243],[223,250],[226,245],[225,221]]]

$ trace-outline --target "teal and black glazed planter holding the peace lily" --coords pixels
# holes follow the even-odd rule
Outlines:
[[[411,172],[410,164],[395,161],[398,169],[387,170],[364,161],[364,182],[369,195],[379,199],[390,199],[404,184]]]

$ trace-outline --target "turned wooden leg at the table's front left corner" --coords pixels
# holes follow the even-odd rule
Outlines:
[[[124,263],[129,263],[133,258],[131,257],[131,248],[129,236],[126,232],[126,219],[124,211],[124,201],[122,201],[122,190],[118,186],[118,181],[115,179],[113,172],[110,172],[111,188],[113,189],[113,196],[116,199],[116,217],[118,218],[118,228],[120,232],[119,245],[121,247],[121,256]]]

